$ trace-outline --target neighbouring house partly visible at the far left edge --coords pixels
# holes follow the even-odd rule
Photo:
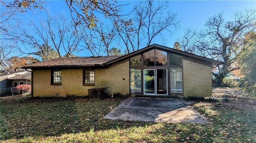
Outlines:
[[[21,84],[31,84],[31,72],[24,69],[1,70],[0,71],[0,90],[1,95],[19,93],[19,90],[11,91],[11,88]]]

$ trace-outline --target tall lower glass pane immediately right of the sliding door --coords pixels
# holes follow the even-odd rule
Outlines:
[[[182,68],[170,68],[170,86],[171,93],[182,93]]]

